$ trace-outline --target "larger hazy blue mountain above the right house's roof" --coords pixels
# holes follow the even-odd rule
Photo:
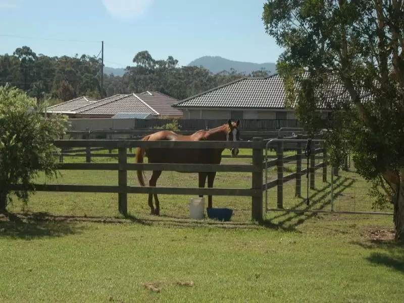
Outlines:
[[[275,63],[251,63],[251,62],[241,62],[228,60],[219,56],[204,56],[195,59],[188,66],[203,66],[204,68],[210,70],[212,73],[216,74],[221,71],[230,71],[231,68],[235,69],[237,73],[244,72],[246,75],[253,71],[258,71],[261,68],[265,68],[270,74],[276,73]]]

